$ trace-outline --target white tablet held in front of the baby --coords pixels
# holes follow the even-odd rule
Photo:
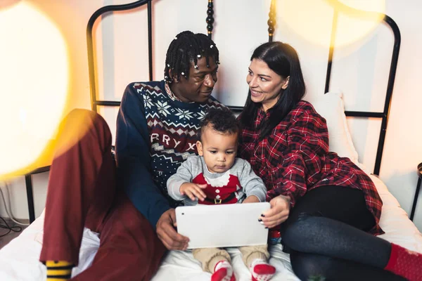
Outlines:
[[[259,221],[268,202],[196,205],[176,208],[177,232],[188,249],[267,244],[268,229]]]

